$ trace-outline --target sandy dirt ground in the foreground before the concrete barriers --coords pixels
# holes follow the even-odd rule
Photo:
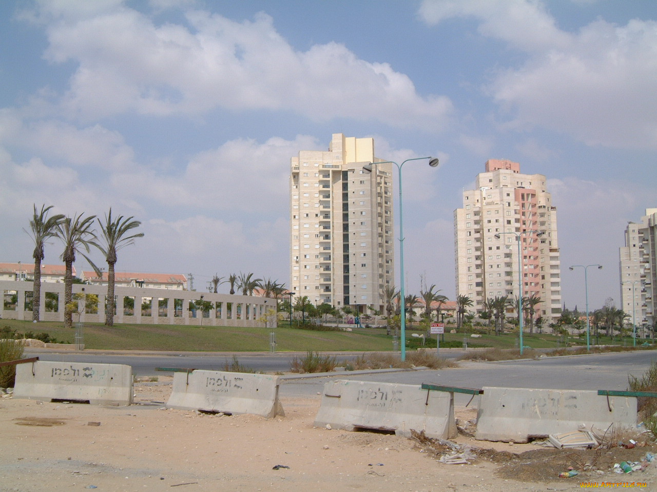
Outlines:
[[[582,482],[646,483],[637,488],[657,490],[657,461],[642,472],[613,472],[615,462],[656,452],[654,444],[562,451],[462,433],[452,441],[457,453],[476,458],[446,464],[439,461],[445,443],[422,436],[314,427],[319,395],[283,398],[285,416],[264,419],[167,410],[170,392],[171,380],[160,377],[135,383],[129,407],[5,396],[0,491],[507,492],[567,491]],[[472,409],[457,409],[462,426],[474,417]],[[569,467],[578,476],[558,478]]]

